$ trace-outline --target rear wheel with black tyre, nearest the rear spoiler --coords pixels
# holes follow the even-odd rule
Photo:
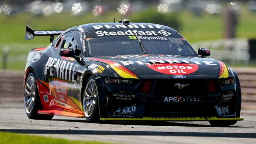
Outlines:
[[[43,109],[43,106],[40,102],[36,78],[33,73],[29,73],[26,78],[24,106],[26,114],[30,119],[51,120],[53,117],[53,115],[38,114],[38,110]]]

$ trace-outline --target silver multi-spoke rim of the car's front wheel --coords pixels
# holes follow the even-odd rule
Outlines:
[[[90,117],[95,109],[98,92],[93,79],[89,80],[83,93],[83,112],[85,117]]]

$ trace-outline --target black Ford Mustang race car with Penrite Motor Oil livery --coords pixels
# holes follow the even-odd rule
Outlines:
[[[207,48],[196,53],[170,27],[129,20],[66,31],[26,27],[26,40],[39,35],[49,35],[51,43],[28,54],[28,118],[209,121],[214,126],[243,120],[235,71],[205,58]]]

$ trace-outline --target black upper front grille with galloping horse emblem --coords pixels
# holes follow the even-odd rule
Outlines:
[[[156,80],[153,95],[208,95],[205,80]]]

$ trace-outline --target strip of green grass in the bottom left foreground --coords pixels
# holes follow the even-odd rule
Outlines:
[[[95,141],[71,141],[34,135],[21,135],[10,132],[0,132],[0,144],[113,144]]]

